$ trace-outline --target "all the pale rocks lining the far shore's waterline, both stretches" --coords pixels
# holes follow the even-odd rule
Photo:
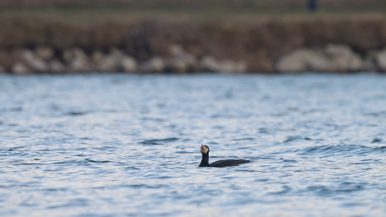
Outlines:
[[[18,75],[32,73],[195,73],[223,72],[247,73],[246,61],[216,59],[213,56],[197,58],[181,45],[169,47],[168,55],[154,56],[139,63],[135,58],[117,48],[108,52],[93,51],[90,55],[75,47],[57,55],[50,47],[15,49],[1,53],[8,68],[0,65],[0,72]],[[370,51],[361,56],[345,45],[328,44],[324,48],[301,48],[281,56],[274,63],[274,72],[357,72],[386,71],[386,49]]]

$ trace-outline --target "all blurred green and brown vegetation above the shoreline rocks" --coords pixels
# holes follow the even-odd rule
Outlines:
[[[270,71],[300,47],[346,44],[364,55],[385,46],[385,0],[318,3],[312,13],[307,0],[0,0],[0,51],[118,47],[144,61],[181,44]]]

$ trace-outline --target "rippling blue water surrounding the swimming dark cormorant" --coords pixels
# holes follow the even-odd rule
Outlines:
[[[386,216],[385,133],[383,75],[2,75],[0,216]]]

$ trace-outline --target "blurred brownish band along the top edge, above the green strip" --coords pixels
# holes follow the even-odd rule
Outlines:
[[[138,10],[303,10],[307,0],[0,0],[10,8],[130,8]],[[382,11],[384,0],[318,0],[321,10]]]

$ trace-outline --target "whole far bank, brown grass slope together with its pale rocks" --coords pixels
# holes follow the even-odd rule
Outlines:
[[[386,71],[384,15],[0,22],[6,73]]]

